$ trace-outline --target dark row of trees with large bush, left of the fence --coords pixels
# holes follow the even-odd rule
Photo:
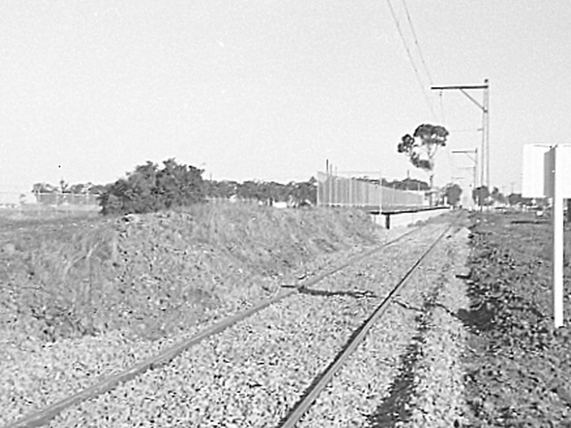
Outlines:
[[[238,183],[204,180],[203,172],[191,165],[178,164],[171,158],[163,161],[162,167],[152,162],[137,165],[125,177],[107,185],[69,185],[61,180],[59,186],[36,183],[32,192],[38,203],[49,205],[66,200],[61,195],[96,195],[104,215],[148,213],[204,203],[208,198],[258,200],[267,205],[286,202],[293,206],[315,205],[317,201],[317,181],[313,177],[300,183],[253,180]]]

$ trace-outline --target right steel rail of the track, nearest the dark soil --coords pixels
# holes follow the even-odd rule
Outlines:
[[[293,428],[295,424],[297,424],[300,421],[305,412],[307,412],[308,409],[311,407],[315,399],[317,399],[318,395],[323,391],[325,386],[330,382],[331,379],[333,379],[335,373],[338,372],[338,370],[348,360],[350,355],[352,355],[353,352],[355,352],[357,347],[360,345],[360,343],[363,342],[365,336],[367,335],[371,327],[375,325],[375,322],[378,321],[378,319],[383,315],[383,313],[387,309],[388,305],[390,305],[390,302],[393,301],[393,297],[406,285],[406,283],[410,279],[410,276],[413,275],[413,272],[415,272],[416,268],[420,265],[420,263],[423,262],[423,260],[435,248],[435,246],[438,245],[438,243],[440,243],[440,240],[444,238],[446,233],[448,233],[448,231],[452,227],[453,227],[452,224],[448,225],[448,227],[445,228],[443,233],[438,235],[438,238],[436,238],[434,243],[430,245],[428,250],[426,250],[425,253],[423,253],[423,255],[421,255],[420,258],[409,268],[406,274],[400,279],[400,281],[395,285],[395,287],[393,287],[393,290],[391,290],[388,293],[383,302],[381,302],[380,305],[376,307],[376,309],[373,311],[370,317],[368,317],[368,319],[365,320],[365,322],[363,322],[363,324],[361,324],[360,327],[358,327],[355,330],[357,334],[350,337],[348,342],[343,347],[343,350],[341,350],[341,352],[339,352],[338,355],[336,355],[333,362],[325,369],[324,372],[322,372],[321,374],[318,375],[318,377],[316,377],[315,379],[316,382],[315,381],[313,382],[312,386],[309,387],[308,391],[305,392],[304,396],[293,406],[290,412],[281,420],[280,424],[278,424],[278,427]]]

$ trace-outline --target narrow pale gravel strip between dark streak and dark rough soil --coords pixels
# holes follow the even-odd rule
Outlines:
[[[438,295],[430,301],[430,318],[425,322],[415,396],[410,402],[411,427],[454,427],[470,422],[463,380],[469,332],[456,315],[470,309],[467,287],[461,279],[468,275],[468,230],[460,230],[446,251],[448,263],[437,279]]]

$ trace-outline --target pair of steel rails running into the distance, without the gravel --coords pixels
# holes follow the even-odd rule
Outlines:
[[[388,307],[390,300],[393,298],[395,294],[399,292],[400,289],[405,285],[408,280],[408,277],[412,275],[412,273],[417,269],[417,267],[422,263],[422,261],[427,257],[430,251],[433,250],[435,245],[438,245],[438,242],[442,240],[445,234],[448,232],[450,227],[445,227],[443,230],[438,230],[438,236],[435,240],[430,244],[428,249],[423,249],[420,255],[416,255],[416,261],[413,263],[410,268],[405,272],[404,275],[401,275],[400,280],[398,281],[397,285],[393,287],[390,291],[385,292],[385,297],[383,297],[382,302],[380,305],[375,305],[375,310],[373,311],[373,315],[370,316],[362,316],[363,320],[360,322],[360,325],[355,329],[354,326],[352,327],[353,330],[358,330],[358,334],[351,335],[350,341],[343,347],[343,352],[339,353],[335,356],[335,360],[333,364],[331,364],[326,372],[319,372],[318,377],[319,379],[313,380],[311,384],[314,385],[311,389],[306,389],[304,398],[300,401],[295,403],[295,406],[291,407],[290,411],[288,412],[288,416],[282,419],[281,426],[283,427],[293,427],[296,422],[300,419],[300,417],[305,413],[305,411],[310,407],[312,402],[315,400],[315,397],[320,393],[323,389],[324,385],[329,382],[330,378],[333,377],[333,374],[338,370],[338,368],[343,365],[343,362],[348,358],[353,350],[358,347],[359,343],[363,340],[363,337],[367,334],[370,326],[375,323],[376,320],[383,314],[386,307]],[[250,309],[241,312],[233,317],[229,317],[222,322],[219,322],[217,325],[214,325],[207,330],[199,333],[196,336],[191,337],[184,342],[178,343],[172,347],[169,347],[163,352],[160,352],[158,355],[150,357],[142,362],[129,367],[128,370],[124,370],[112,377],[108,377],[103,379],[101,382],[94,384],[92,387],[86,388],[81,392],[71,395],[66,399],[62,399],[59,402],[55,402],[51,404],[49,407],[41,410],[40,412],[34,412],[33,414],[29,414],[25,417],[22,417],[19,420],[7,425],[7,427],[39,427],[45,424],[49,424],[55,417],[57,417],[61,412],[64,412],[66,409],[71,409],[73,407],[77,407],[81,402],[85,402],[89,399],[96,399],[96,397],[101,396],[102,394],[106,394],[111,392],[113,389],[116,389],[119,385],[125,384],[129,380],[136,379],[137,377],[143,376],[148,370],[158,369],[159,367],[165,367],[168,365],[169,362],[172,362],[177,357],[181,356],[184,352],[188,351],[191,347],[194,347],[202,342],[212,342],[216,340],[216,335],[220,335],[222,332],[230,329],[233,326],[236,326],[240,322],[255,317],[257,314],[260,314],[264,310],[268,310],[272,305],[276,305],[279,302],[283,302],[284,300],[288,300],[290,297],[298,296],[303,297],[304,295],[319,295],[320,292],[323,290],[314,290],[315,285],[318,285],[320,282],[324,280],[328,280],[331,277],[335,276],[345,270],[348,267],[353,267],[358,263],[362,262],[363,260],[370,259],[373,255],[381,253],[389,248],[394,247],[398,243],[403,243],[403,241],[407,239],[411,239],[417,237],[417,235],[422,232],[419,232],[419,228],[415,228],[408,233],[401,235],[400,237],[392,240],[388,243],[380,245],[373,250],[368,250],[365,253],[361,253],[360,255],[356,255],[353,258],[350,258],[345,263],[342,263],[338,266],[327,270],[320,275],[316,275],[315,277],[309,278],[308,280],[304,281],[300,285],[291,285],[292,288],[290,290],[284,290],[281,294],[276,295],[269,300],[261,302],[258,305],[251,307]],[[326,292],[325,292],[326,293]],[[369,293],[369,294],[367,294]],[[362,292],[361,297],[371,297],[371,291]],[[334,294],[334,293],[333,293]],[[350,295],[350,293],[348,293]],[[358,295],[353,293],[351,297],[355,297]],[[373,295],[373,297],[376,297]],[[378,300],[378,297],[376,299]],[[371,305],[368,305],[367,310],[370,313]],[[57,426],[57,425],[54,425]]]

